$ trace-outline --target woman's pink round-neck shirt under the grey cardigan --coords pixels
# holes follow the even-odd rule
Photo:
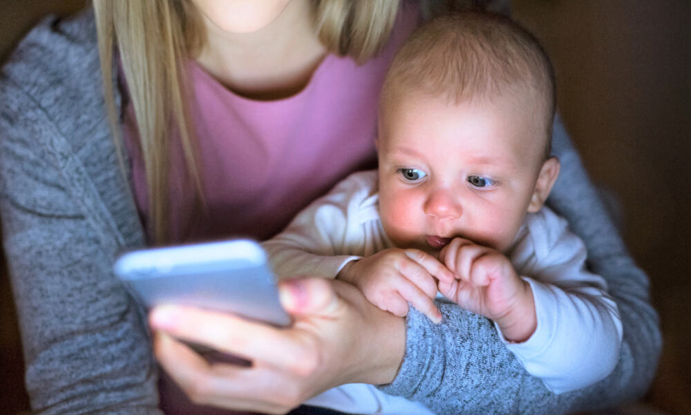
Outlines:
[[[406,3],[404,3],[406,4]],[[194,206],[178,140],[171,142],[173,241],[225,237],[267,239],[342,178],[375,164],[377,103],[386,70],[418,24],[403,8],[392,38],[377,57],[358,66],[326,55],[305,88],[289,98],[258,101],[226,89],[196,62],[189,64],[197,105],[193,122],[208,214]],[[135,199],[148,223],[146,176],[134,145],[131,104],[123,130]]]

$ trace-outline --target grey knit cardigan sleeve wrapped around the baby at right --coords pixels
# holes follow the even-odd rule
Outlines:
[[[562,171],[549,203],[583,239],[588,266],[605,279],[621,315],[623,340],[614,371],[589,387],[554,394],[527,374],[489,320],[439,304],[442,324],[408,313],[406,354],[395,380],[381,386],[386,393],[422,401],[439,414],[561,414],[636,400],[650,387],[661,333],[647,277],[625,250],[560,120],[553,151]]]

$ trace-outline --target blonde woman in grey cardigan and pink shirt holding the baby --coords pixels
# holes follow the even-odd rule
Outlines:
[[[367,165],[378,82],[417,24],[416,4],[396,6],[95,1],[96,17],[45,21],[28,35],[0,78],[0,209],[33,409],[158,412],[146,317],[113,277],[115,255],[229,234],[268,237]],[[113,80],[105,95],[102,79]],[[660,349],[647,279],[555,128],[562,178],[551,205],[586,242],[623,317],[621,360],[597,385],[555,396],[482,318],[442,308],[437,326],[415,312],[402,320],[350,286],[312,279],[282,286],[296,320],[285,331],[157,309],[155,356],[197,403],[272,413],[345,382],[385,385],[438,413],[557,413],[641,396]],[[446,343],[447,333],[467,342]],[[254,365],[209,365],[170,335]],[[162,391],[165,407],[171,394]]]

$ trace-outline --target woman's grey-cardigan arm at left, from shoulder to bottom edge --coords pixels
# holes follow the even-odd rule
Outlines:
[[[108,232],[122,223],[103,214],[129,200],[87,196],[119,173],[98,57],[78,37],[47,20],[0,74],[0,214],[26,387],[45,414],[158,414],[149,336],[111,272],[123,244]],[[61,77],[68,66],[84,76]]]

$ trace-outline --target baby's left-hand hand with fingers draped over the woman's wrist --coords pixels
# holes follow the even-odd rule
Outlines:
[[[375,306],[400,317],[408,302],[433,322],[442,321],[433,299],[437,279],[451,284],[453,273],[435,257],[416,249],[390,248],[346,264],[339,279],[357,286]]]

